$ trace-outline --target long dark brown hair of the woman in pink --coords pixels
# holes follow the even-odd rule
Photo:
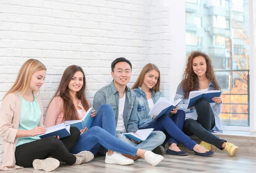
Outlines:
[[[76,96],[79,99],[81,99],[81,103],[82,103],[85,110],[88,110],[90,108],[90,105],[87,102],[87,99],[86,99],[86,96],[85,96],[86,81],[85,81],[84,71],[81,67],[79,67],[77,65],[70,65],[64,71],[64,73],[62,75],[62,78],[61,78],[61,82],[58,86],[58,89],[57,89],[55,95],[53,96],[53,98],[56,97],[56,96],[60,96],[61,99],[63,99],[63,109],[64,109],[63,119],[65,121],[79,119],[76,107],[73,104],[73,98],[70,96],[70,90],[68,88],[68,84],[69,84],[70,80],[73,78],[74,74],[77,71],[82,72],[84,79],[83,79],[83,86],[82,86],[80,91],[76,92]],[[51,100],[51,102],[52,102],[52,100]]]

